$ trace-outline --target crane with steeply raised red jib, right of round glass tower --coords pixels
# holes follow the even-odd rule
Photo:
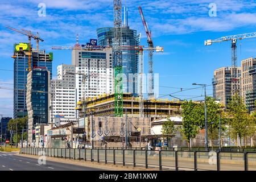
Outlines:
[[[151,37],[151,31],[148,31],[147,23],[143,15],[141,6],[138,7],[139,14],[141,15],[142,23],[147,34],[148,48],[154,48],[154,44]],[[153,53],[154,49],[148,51],[148,99],[154,98],[154,76],[153,76]]]

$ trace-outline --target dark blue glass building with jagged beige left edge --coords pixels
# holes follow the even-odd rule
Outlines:
[[[28,142],[35,139],[36,124],[49,123],[50,73],[34,68],[27,75]]]

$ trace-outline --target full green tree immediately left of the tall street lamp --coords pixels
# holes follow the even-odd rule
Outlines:
[[[182,127],[180,132],[188,143],[190,148],[190,140],[199,134],[200,122],[202,121],[201,114],[199,113],[201,105],[192,101],[185,101],[182,105]]]

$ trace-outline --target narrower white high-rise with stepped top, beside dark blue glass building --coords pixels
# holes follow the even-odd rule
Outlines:
[[[76,67],[61,64],[57,79],[51,80],[51,121],[66,123],[76,121]]]

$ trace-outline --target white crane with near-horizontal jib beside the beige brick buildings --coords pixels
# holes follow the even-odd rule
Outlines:
[[[211,46],[213,43],[220,43],[225,41],[231,41],[231,61],[232,61],[232,71],[231,71],[231,78],[234,82],[233,90],[235,92],[238,89],[238,71],[237,71],[237,40],[247,39],[247,38],[255,38],[256,32],[248,33],[248,34],[239,34],[239,35],[230,35],[230,36],[223,36],[218,39],[214,40],[205,40],[205,46]]]

